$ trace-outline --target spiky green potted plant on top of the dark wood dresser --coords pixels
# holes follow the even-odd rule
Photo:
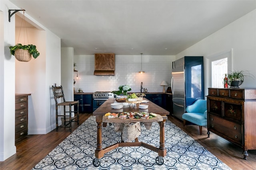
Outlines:
[[[228,85],[230,85],[231,88],[239,88],[239,86],[244,82],[244,77],[251,77],[251,75],[252,74],[250,74],[247,70],[232,71],[227,75]]]

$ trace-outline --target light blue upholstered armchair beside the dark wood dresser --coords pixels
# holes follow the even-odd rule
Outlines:
[[[182,115],[183,126],[190,121],[199,126],[202,135],[202,126],[207,125],[207,103],[206,100],[196,100],[192,105],[186,107],[186,113]]]

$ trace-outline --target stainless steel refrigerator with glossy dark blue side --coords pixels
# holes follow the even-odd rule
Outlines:
[[[173,115],[180,120],[187,106],[204,99],[204,59],[185,56],[172,62]]]

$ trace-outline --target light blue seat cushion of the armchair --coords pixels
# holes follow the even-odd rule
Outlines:
[[[184,113],[182,119],[190,121],[199,126],[206,126],[207,119],[204,117],[203,113]]]

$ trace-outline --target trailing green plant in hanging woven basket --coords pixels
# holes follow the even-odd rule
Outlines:
[[[16,44],[14,46],[10,46],[10,52],[18,61],[30,61],[31,55],[36,59],[40,53],[37,51],[36,46],[29,44],[29,45],[22,45]]]

